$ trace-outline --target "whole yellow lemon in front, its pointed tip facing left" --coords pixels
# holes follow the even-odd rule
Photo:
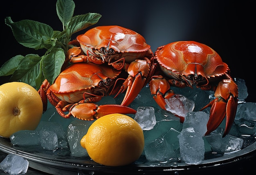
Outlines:
[[[92,123],[80,143],[94,162],[124,166],[140,157],[144,149],[144,135],[131,117],[108,114]]]

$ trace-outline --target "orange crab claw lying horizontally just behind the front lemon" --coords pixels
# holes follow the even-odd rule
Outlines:
[[[64,104],[61,104],[64,103]],[[65,105],[65,101],[61,101],[58,103],[60,105]],[[58,108],[56,106],[57,112],[64,118],[69,118],[74,116],[81,120],[94,120],[99,119],[100,117],[113,114],[113,113],[121,113],[121,114],[135,114],[136,110],[129,108],[127,106],[121,105],[97,105],[94,103],[75,103],[65,106],[64,108]],[[69,108],[70,107],[70,108]],[[68,114],[64,112],[69,111]]]

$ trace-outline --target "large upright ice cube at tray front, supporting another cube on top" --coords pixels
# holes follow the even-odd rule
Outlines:
[[[204,140],[194,128],[184,128],[177,136],[180,143],[180,155],[186,164],[200,164],[204,160]]]

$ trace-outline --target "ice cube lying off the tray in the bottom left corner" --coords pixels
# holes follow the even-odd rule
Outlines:
[[[0,169],[10,175],[18,175],[27,173],[29,162],[19,155],[8,154],[2,162]]]

